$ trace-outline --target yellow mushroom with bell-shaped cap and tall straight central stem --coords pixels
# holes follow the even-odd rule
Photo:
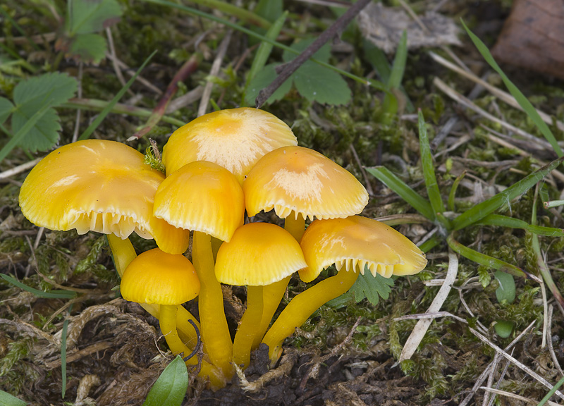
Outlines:
[[[243,225],[245,200],[238,180],[226,168],[194,161],[171,173],[157,190],[154,215],[194,232],[192,260],[202,290],[198,300],[202,342],[212,363],[233,374],[233,343],[214,273],[211,238],[229,241]]]

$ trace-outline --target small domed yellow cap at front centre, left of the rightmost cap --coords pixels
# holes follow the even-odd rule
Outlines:
[[[230,285],[263,286],[307,266],[300,245],[288,231],[270,223],[247,223],[216,259],[216,278]]]

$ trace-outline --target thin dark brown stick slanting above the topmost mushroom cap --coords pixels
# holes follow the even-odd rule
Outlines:
[[[257,99],[255,99],[255,107],[260,109],[264,102],[268,100],[274,92],[276,92],[278,87],[280,87],[283,82],[286,82],[286,79],[290,78],[292,73],[298,70],[298,68],[300,68],[305,61],[311,58],[313,54],[319,51],[319,48],[323,47],[329,39],[338,35],[338,32],[341,32],[341,30],[343,30],[343,28],[346,27],[348,23],[350,23],[350,21],[353,20],[358,13],[360,13],[362,8],[369,4],[370,1],[372,0],[358,0],[355,4],[348,8],[343,16],[337,18],[331,27],[327,28],[324,32],[321,32],[321,35],[319,35],[319,37],[317,37],[317,39],[309,45],[309,47],[304,49],[304,51],[298,55],[296,59],[286,63],[286,66],[284,66],[282,72],[276,77],[276,79],[274,79],[268,87],[265,87],[259,92]]]

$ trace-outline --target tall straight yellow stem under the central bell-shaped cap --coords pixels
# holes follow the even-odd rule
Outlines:
[[[223,293],[214,271],[214,255],[209,235],[194,231],[192,242],[192,262],[200,278],[200,310],[202,342],[206,347],[209,359],[231,379],[233,376],[233,343],[229,335],[225,310],[223,309]]]

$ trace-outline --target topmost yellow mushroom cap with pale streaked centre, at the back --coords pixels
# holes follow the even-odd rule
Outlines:
[[[214,111],[178,128],[163,149],[166,176],[192,161],[210,161],[239,183],[266,152],[297,145],[292,130],[266,111],[241,107]]]

